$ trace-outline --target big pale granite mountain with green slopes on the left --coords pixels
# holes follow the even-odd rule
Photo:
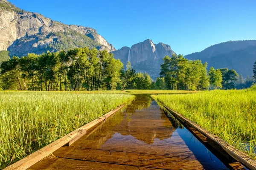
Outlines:
[[[0,0],[0,51],[20,57],[84,46],[115,50],[93,28],[66,25]]]

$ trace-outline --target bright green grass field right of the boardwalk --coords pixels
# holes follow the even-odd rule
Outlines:
[[[256,89],[152,95],[256,159]]]

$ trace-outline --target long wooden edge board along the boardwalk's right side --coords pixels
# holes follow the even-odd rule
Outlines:
[[[218,136],[215,136],[212,133],[209,133],[208,130],[205,130],[203,127],[195,124],[191,120],[182,116],[180,113],[177,113],[176,111],[166,107],[165,105],[163,105],[163,107],[166,108],[166,110],[169,111],[170,113],[177,116],[178,119],[180,119],[183,122],[186,122],[188,125],[194,127],[196,130],[198,130],[200,133],[202,133],[204,136],[206,136],[208,139],[214,141],[223,150],[225,150],[230,156],[232,156],[237,161],[241,162],[241,164],[250,168],[251,170],[256,170],[256,160],[251,159],[249,156],[247,156],[247,154],[245,154],[242,151],[236,149],[235,147],[231,146],[230,144],[227,144],[227,142],[225,142],[224,140],[222,140]]]

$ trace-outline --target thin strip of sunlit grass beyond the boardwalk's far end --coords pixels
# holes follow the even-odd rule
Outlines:
[[[198,91],[177,91],[177,90],[124,90],[131,94],[183,94],[197,93]]]

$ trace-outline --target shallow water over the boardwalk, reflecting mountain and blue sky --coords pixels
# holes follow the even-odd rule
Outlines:
[[[108,150],[108,160],[118,164],[163,169],[227,169],[177,119],[167,118],[149,95],[137,95],[131,105],[88,132],[74,146]],[[112,159],[113,151],[119,156]]]

